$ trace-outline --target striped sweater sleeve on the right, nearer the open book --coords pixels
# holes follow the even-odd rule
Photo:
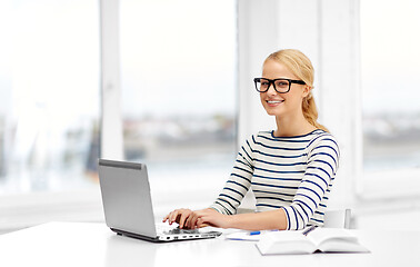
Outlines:
[[[339,148],[330,135],[322,136],[309,147],[307,170],[292,200],[282,207],[288,221],[288,230],[307,226],[316,210],[328,197],[339,162]]]

